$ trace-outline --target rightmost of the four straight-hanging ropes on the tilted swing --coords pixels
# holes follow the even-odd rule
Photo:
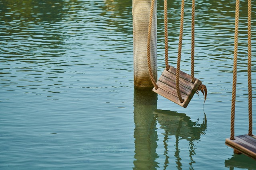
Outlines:
[[[191,16],[191,80],[194,83],[194,65],[195,65],[195,0],[192,0],[192,16]]]

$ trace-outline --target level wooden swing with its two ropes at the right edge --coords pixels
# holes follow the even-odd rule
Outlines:
[[[256,135],[252,134],[252,2],[248,0],[248,134],[235,137],[235,109],[236,109],[236,80],[237,80],[237,56],[238,56],[238,24],[239,4],[236,0],[233,85],[231,103],[230,138],[226,139],[226,145],[234,149],[234,153],[245,154],[256,160]]]

